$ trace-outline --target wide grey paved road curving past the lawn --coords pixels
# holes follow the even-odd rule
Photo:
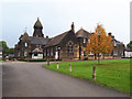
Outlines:
[[[6,62],[3,97],[128,97],[106,87],[90,84],[43,67],[42,63]]]

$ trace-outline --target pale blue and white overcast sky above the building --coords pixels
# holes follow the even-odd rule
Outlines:
[[[81,26],[94,32],[97,23],[114,37],[128,44],[130,41],[131,0],[2,0],[0,2],[0,40],[14,47],[25,28],[33,35],[37,18],[43,24],[44,36],[53,37]]]

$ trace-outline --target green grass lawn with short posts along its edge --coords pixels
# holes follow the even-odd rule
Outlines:
[[[132,90],[130,91],[130,59],[101,61],[100,65],[97,61],[72,62],[73,72],[69,72],[69,63],[59,63],[58,69],[56,63],[44,67],[73,77],[88,79],[91,82],[122,92],[132,94]],[[96,80],[92,79],[94,65],[96,65]]]

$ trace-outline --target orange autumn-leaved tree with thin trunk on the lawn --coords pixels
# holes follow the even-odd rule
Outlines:
[[[105,53],[111,53],[113,50],[113,43],[111,42],[111,36],[107,35],[106,30],[101,24],[98,24],[95,29],[95,32],[89,36],[86,51],[89,54],[98,54],[98,64],[99,64],[99,53],[102,55]]]

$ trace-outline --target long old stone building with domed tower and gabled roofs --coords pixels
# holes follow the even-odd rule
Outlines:
[[[54,37],[44,37],[43,25],[37,19],[34,24],[33,36],[26,32],[20,36],[20,41],[15,44],[14,54],[16,58],[53,58],[53,59],[94,59],[92,53],[86,54],[85,47],[91,33],[82,28],[75,33],[74,22],[70,29]],[[117,41],[109,33],[114,43],[111,54],[106,56],[121,57],[124,52],[124,44]]]

